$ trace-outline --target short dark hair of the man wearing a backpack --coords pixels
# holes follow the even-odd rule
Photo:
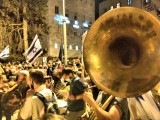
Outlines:
[[[31,70],[29,72],[29,76],[30,76],[30,78],[33,79],[33,81],[36,84],[40,84],[41,85],[41,84],[45,83],[45,79],[44,79],[43,73],[40,70],[36,70],[36,69]]]

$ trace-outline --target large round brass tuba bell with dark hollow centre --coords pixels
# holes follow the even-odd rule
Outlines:
[[[120,7],[100,16],[84,41],[86,70],[114,96],[139,96],[160,80],[160,22],[152,14]]]

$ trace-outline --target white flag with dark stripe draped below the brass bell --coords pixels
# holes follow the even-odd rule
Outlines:
[[[160,109],[151,91],[134,98],[128,98],[130,120],[159,120]]]

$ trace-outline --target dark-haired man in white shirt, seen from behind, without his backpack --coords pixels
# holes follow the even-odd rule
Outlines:
[[[28,91],[26,101],[20,109],[18,120],[37,120],[44,115],[44,105],[42,101],[34,95],[35,92],[41,93],[47,100],[52,100],[52,91],[46,88],[43,73],[39,70],[32,70],[29,76],[28,83],[31,89]]]

